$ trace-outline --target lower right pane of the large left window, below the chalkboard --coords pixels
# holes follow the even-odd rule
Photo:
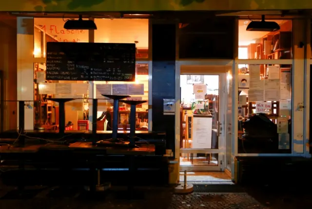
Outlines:
[[[148,64],[136,64],[135,82],[95,81],[98,99],[98,131],[111,131],[113,122],[113,100],[101,94],[130,95],[132,100],[146,101],[137,105],[136,130],[148,130]],[[118,130],[130,130],[130,105],[119,103]]]

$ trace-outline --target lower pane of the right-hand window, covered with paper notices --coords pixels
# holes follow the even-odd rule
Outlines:
[[[238,153],[291,153],[292,66],[246,65],[238,72]]]

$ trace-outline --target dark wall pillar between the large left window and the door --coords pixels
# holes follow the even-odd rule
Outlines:
[[[176,24],[152,24],[153,131],[166,131],[175,150],[175,115],[163,115],[163,100],[175,99]]]

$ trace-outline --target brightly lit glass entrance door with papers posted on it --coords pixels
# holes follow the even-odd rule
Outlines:
[[[180,75],[180,170],[224,168],[226,73]]]

